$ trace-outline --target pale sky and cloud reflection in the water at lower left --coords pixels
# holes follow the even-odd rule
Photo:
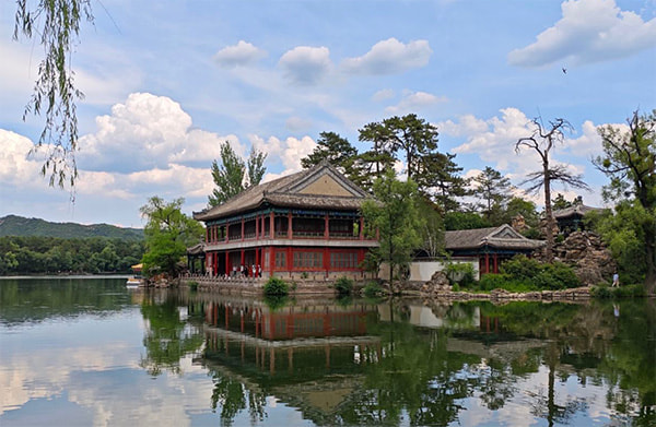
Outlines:
[[[1,426],[216,425],[206,368],[180,359],[180,375],[151,377],[139,307],[110,316],[55,318],[0,328]],[[311,426],[270,398],[266,424]],[[250,425],[248,411],[234,419]]]

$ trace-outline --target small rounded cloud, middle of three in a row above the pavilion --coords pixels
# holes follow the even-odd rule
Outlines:
[[[279,66],[286,79],[302,85],[318,83],[332,69],[328,48],[309,46],[297,46],[286,51]]]

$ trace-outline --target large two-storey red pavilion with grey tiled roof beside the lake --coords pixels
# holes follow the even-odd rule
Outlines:
[[[195,212],[206,224],[206,268],[234,276],[364,278],[370,248],[362,202],[367,193],[328,163],[251,187],[223,204]],[[318,278],[318,277],[317,277]]]

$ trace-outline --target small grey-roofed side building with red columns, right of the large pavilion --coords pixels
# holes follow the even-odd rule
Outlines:
[[[518,253],[531,254],[544,245],[522,236],[513,227],[504,224],[499,227],[460,229],[445,232],[445,249],[454,260],[475,258],[480,274],[499,273],[499,266]]]

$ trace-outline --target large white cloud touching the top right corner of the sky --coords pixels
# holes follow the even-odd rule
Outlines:
[[[590,63],[656,46],[656,19],[644,22],[634,12],[621,11],[614,0],[569,0],[561,9],[562,19],[536,43],[508,54],[511,64]]]

